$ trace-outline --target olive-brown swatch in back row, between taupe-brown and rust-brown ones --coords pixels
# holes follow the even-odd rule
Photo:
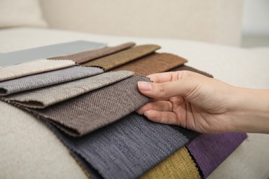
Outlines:
[[[103,70],[108,71],[114,67],[118,67],[130,61],[134,61],[135,59],[139,59],[142,56],[146,56],[147,54],[151,54],[159,48],[161,48],[159,45],[138,45],[134,48],[123,50],[116,54],[105,56],[94,61],[89,61],[88,63],[83,63],[82,65],[102,67]]]

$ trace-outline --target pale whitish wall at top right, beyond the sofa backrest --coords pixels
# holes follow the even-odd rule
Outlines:
[[[245,0],[243,34],[269,35],[269,0]]]

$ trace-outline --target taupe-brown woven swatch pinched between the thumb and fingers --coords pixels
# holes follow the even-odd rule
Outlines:
[[[69,135],[82,136],[113,123],[148,103],[150,98],[140,94],[137,89],[138,81],[150,82],[150,78],[132,76],[45,109],[17,106],[38,118],[50,120]],[[12,101],[10,103],[16,105]]]

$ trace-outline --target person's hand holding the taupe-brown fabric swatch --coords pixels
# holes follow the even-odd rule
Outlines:
[[[245,124],[249,125],[249,121],[241,121],[244,118],[242,114],[248,114],[246,110],[249,108],[251,110],[245,104],[250,102],[245,101],[248,96],[246,89],[188,71],[151,74],[148,77],[153,83],[140,81],[139,92],[153,99],[138,109],[138,114],[144,114],[157,123],[179,125],[201,133],[252,132]],[[269,132],[269,120],[266,122],[268,126],[263,132]],[[246,129],[240,128],[242,124]],[[256,131],[254,129],[253,132]]]

